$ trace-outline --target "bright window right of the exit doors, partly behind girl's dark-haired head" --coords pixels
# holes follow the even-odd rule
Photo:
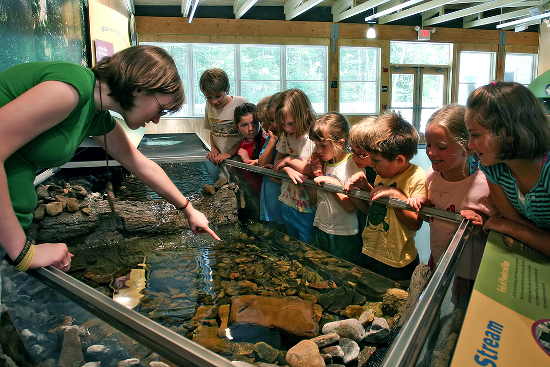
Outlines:
[[[461,51],[458,73],[458,103],[466,105],[474,89],[489,83],[495,73],[494,52]]]

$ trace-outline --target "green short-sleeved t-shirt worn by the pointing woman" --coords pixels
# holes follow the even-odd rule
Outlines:
[[[95,108],[94,73],[69,62],[32,62],[4,70],[0,73],[0,107],[46,80],[74,86],[80,99],[67,118],[20,147],[4,163],[10,200],[24,229],[29,227],[36,207],[33,182],[37,168],[67,163],[87,136],[110,132],[116,124],[108,111]]]

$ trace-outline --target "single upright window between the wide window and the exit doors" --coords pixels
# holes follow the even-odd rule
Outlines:
[[[340,47],[340,113],[378,113],[380,49]]]

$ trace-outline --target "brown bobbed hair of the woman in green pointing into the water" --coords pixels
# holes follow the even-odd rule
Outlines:
[[[134,92],[143,89],[173,95],[163,108],[177,112],[185,103],[182,79],[174,59],[162,47],[139,45],[125,48],[113,56],[102,58],[92,69],[100,81],[109,87],[109,96],[124,109],[134,106]]]

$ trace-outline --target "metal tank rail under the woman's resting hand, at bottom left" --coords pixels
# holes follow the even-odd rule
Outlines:
[[[227,359],[211,350],[157,324],[134,310],[125,308],[105,294],[52,266],[30,270],[29,273],[70,300],[78,300],[78,304],[91,314],[176,365],[234,367]]]

